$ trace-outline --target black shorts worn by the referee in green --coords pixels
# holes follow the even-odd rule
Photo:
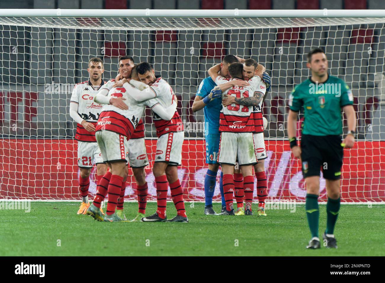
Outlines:
[[[302,135],[301,159],[303,177],[320,176],[338,180],[341,178],[343,147],[341,136]]]

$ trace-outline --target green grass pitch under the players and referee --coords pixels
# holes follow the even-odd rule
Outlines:
[[[254,204],[256,208],[257,204]],[[306,250],[303,205],[266,210],[267,217],[205,216],[204,204],[186,203],[189,223],[103,223],[77,215],[79,203],[32,202],[30,213],[1,210],[1,256],[383,256],[385,206],[341,205],[337,250]],[[137,203],[125,203],[127,218]],[[220,204],[214,204],[218,212]],[[147,215],[156,203],[147,204]],[[167,203],[169,219],[175,214]],[[320,236],[326,206],[320,205]],[[60,246],[58,245],[60,240]],[[238,244],[237,244],[238,243]]]

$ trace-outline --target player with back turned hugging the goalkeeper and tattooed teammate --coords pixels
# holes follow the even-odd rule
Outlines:
[[[217,85],[228,82],[228,79],[216,76],[213,70],[209,70],[209,75],[215,79]],[[229,75],[232,80],[244,80],[243,64],[235,62],[229,65]],[[224,95],[241,97],[252,100],[254,96],[262,99],[266,88],[260,88],[265,85],[261,78],[255,76],[248,80],[250,84],[247,87],[234,86],[224,92]],[[243,174],[243,189],[246,198],[246,211],[251,213],[251,201],[254,191],[253,165],[257,163],[257,157],[253,141],[254,119],[252,107],[239,104],[223,107],[220,115],[219,132],[221,132],[219,142],[218,162],[223,171],[223,191],[226,201],[226,211],[219,215],[234,215],[233,193],[234,193],[234,166],[238,157],[239,167]]]

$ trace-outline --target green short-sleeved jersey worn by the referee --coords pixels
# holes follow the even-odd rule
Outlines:
[[[290,94],[289,106],[292,111],[304,109],[302,134],[328,136],[342,134],[341,107],[353,104],[352,91],[345,82],[328,75],[323,84],[310,78],[297,85]]]

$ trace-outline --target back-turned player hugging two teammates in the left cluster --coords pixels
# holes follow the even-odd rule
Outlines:
[[[134,94],[143,97],[143,102],[133,99]],[[115,213],[115,208],[127,178],[128,141],[142,118],[146,105],[163,119],[171,119],[176,111],[176,102],[172,101],[169,107],[164,108],[148,94],[146,90],[140,91],[130,84],[125,84],[124,87],[106,84],[95,97],[96,102],[106,104],[100,113],[95,136],[103,160],[110,167],[110,171],[102,178],[94,202],[87,210],[87,214],[98,221],[123,221]],[[105,198],[107,192],[107,211],[103,218],[100,213],[100,200]]]

